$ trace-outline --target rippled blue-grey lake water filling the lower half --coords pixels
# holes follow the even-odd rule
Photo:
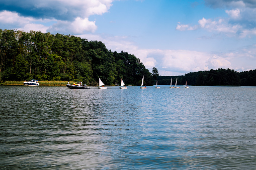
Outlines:
[[[0,169],[255,169],[256,87],[0,86]]]

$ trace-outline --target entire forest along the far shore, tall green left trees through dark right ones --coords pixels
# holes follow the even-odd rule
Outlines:
[[[112,52],[100,41],[88,41],[72,35],[29,33],[0,29],[0,82],[37,80],[82,81],[97,85],[178,85],[256,86],[256,70],[236,72],[230,69],[198,71],[181,76],[159,76],[140,59],[121,51]]]

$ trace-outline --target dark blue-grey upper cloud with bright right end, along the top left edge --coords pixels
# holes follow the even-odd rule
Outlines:
[[[109,10],[112,2],[113,0],[8,0],[0,1],[0,11],[16,12],[25,17],[73,21],[77,17],[102,15]]]

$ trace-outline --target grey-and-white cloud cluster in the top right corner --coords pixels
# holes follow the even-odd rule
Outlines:
[[[204,29],[214,34],[222,34],[228,37],[251,37],[255,36],[256,29],[256,1],[251,0],[205,0],[205,5],[211,8],[227,8],[225,10],[229,18],[203,18],[198,25],[190,26],[178,23],[179,31],[191,31]]]

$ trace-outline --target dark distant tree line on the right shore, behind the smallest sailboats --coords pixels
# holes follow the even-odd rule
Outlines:
[[[184,76],[158,76],[158,84],[175,85],[178,78],[179,85],[200,85],[200,86],[256,86],[256,70],[236,72],[230,69],[217,69],[209,71],[198,71],[185,74]]]

